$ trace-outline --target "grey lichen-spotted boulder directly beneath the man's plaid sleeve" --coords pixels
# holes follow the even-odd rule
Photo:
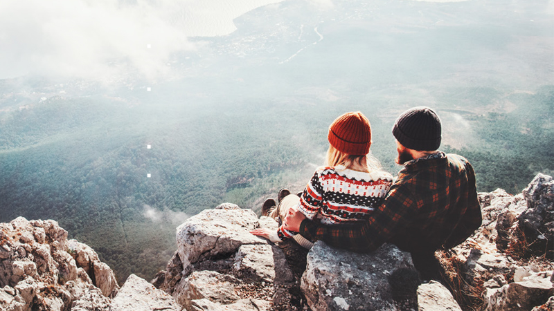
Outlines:
[[[409,271],[415,272],[410,254],[394,245],[355,254],[318,241],[307,255],[301,289],[312,310],[396,310],[388,279]]]

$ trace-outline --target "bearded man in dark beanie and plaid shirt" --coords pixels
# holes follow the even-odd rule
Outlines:
[[[423,279],[437,279],[434,252],[451,248],[481,225],[475,173],[465,158],[438,151],[441,124],[434,111],[415,107],[393,126],[398,173],[382,205],[367,221],[326,226],[291,211],[285,229],[353,252],[372,252],[393,243],[412,254]]]

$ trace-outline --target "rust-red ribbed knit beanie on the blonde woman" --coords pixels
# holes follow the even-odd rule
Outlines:
[[[366,155],[371,145],[369,120],[359,111],[345,113],[329,126],[327,139],[332,147],[343,153]]]

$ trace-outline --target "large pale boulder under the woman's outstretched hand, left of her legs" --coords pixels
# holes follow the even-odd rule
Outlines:
[[[287,310],[294,278],[285,255],[258,227],[277,225],[225,203],[177,228],[177,252],[152,281],[188,310]]]

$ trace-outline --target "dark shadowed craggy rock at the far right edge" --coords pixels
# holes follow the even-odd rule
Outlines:
[[[554,182],[551,176],[537,174],[522,194],[527,209],[518,219],[517,240],[526,241],[526,253],[536,256],[553,252],[554,245]],[[552,257],[551,257],[552,258]]]

